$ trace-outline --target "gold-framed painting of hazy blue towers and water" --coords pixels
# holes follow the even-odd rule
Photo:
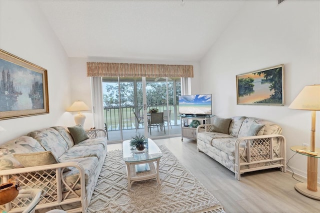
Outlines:
[[[49,113],[47,70],[0,49],[0,120]]]

